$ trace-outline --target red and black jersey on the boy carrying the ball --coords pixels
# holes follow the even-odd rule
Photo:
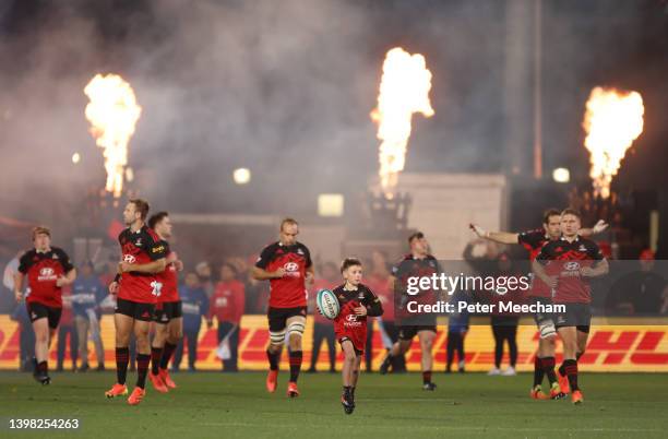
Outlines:
[[[367,317],[382,316],[380,299],[367,286],[359,284],[357,289],[348,290],[339,285],[332,290],[338,299],[341,310],[334,319],[334,333],[337,339],[348,337],[358,351],[367,343]],[[357,316],[355,308],[367,307],[367,316]]]

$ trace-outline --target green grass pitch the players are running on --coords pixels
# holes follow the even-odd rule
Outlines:
[[[160,394],[147,383],[139,406],[104,396],[112,372],[52,373],[40,387],[29,373],[0,372],[0,437],[79,438],[432,438],[663,437],[668,435],[668,376],[582,373],[585,403],[533,401],[532,376],[434,373],[436,392],[418,373],[362,373],[357,408],[345,415],[341,376],[303,373],[301,396],[276,393],[264,373],[175,373],[179,385]],[[129,373],[133,383],[134,373]],[[130,387],[130,390],[132,388]],[[79,418],[79,430],[9,429],[10,418]],[[491,436],[490,436],[491,435]]]

